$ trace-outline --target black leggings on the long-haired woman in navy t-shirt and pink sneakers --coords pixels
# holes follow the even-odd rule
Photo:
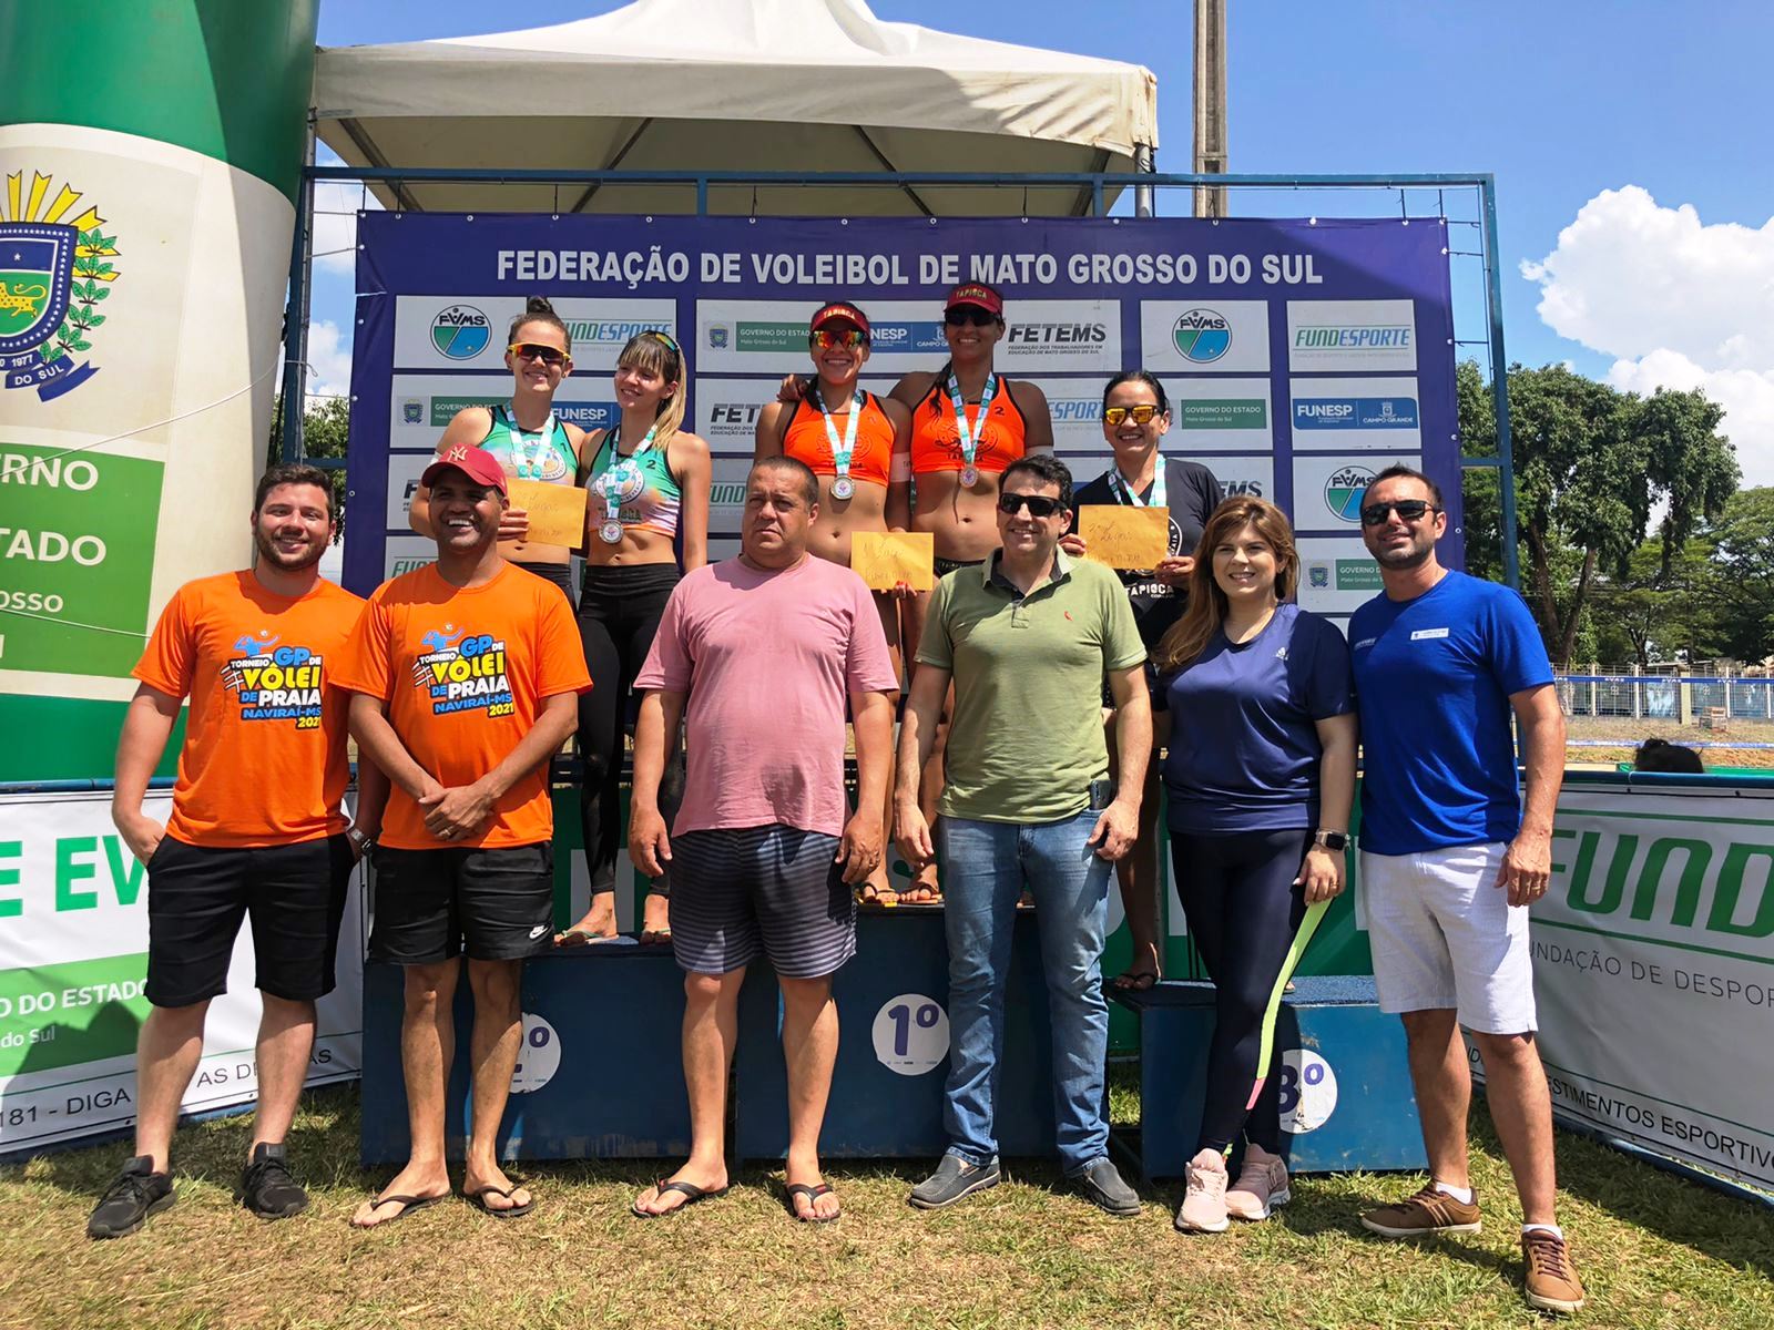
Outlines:
[[[1226,1149],[1244,1128],[1245,1140],[1281,1153],[1281,1076],[1270,1066],[1256,1107],[1263,1013],[1288,947],[1306,917],[1306,888],[1295,887],[1313,833],[1171,832],[1176,894],[1201,959],[1213,979],[1213,1043],[1208,1044],[1208,1096],[1196,1149]]]

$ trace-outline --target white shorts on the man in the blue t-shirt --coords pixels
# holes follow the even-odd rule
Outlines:
[[[1535,1021],[1527,906],[1497,887],[1508,846],[1421,855],[1361,855],[1361,896],[1380,1011],[1456,1011],[1481,1034],[1526,1034]]]

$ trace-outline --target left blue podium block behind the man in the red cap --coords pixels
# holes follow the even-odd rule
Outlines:
[[[404,1163],[410,1149],[401,1075],[401,968],[364,966],[362,1160]],[[498,1131],[502,1160],[681,1158],[690,1101],[679,1030],[683,972],[671,947],[614,938],[538,956],[523,966],[523,1050]],[[456,1057],[445,1131],[461,1158],[468,1126],[467,963],[456,981]]]

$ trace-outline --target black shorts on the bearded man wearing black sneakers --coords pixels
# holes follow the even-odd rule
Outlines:
[[[259,849],[161,837],[147,860],[147,1000],[190,1007],[227,993],[247,917],[259,991],[289,1002],[332,993],[355,862],[344,835]]]

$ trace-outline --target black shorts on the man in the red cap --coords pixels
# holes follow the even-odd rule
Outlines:
[[[522,961],[553,945],[553,846],[378,846],[371,899],[373,961]]]

